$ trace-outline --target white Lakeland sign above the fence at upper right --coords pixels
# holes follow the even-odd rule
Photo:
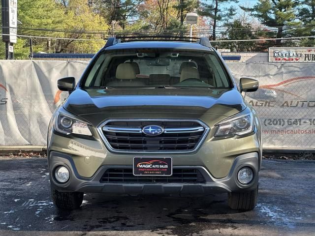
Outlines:
[[[269,48],[269,62],[315,62],[315,48]]]

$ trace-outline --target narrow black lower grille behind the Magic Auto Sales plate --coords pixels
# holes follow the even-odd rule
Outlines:
[[[197,169],[173,169],[173,175],[134,176],[132,169],[108,169],[102,183],[204,183],[205,179]]]

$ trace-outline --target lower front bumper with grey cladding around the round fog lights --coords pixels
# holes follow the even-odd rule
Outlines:
[[[69,180],[58,183],[53,172],[57,166],[63,165],[70,171]],[[254,178],[249,184],[241,184],[237,180],[237,173],[242,167],[251,167]],[[181,194],[204,195],[220,192],[242,192],[257,187],[259,178],[259,155],[257,152],[242,154],[234,158],[232,167],[226,177],[215,178],[202,166],[174,166],[173,168],[193,168],[199,170],[205,179],[204,183],[103,183],[101,177],[109,168],[131,168],[129,165],[103,165],[92,177],[79,175],[73,158],[70,155],[49,152],[50,179],[53,188],[59,191],[115,193],[115,194]]]

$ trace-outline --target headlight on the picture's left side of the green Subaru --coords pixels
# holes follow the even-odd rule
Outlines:
[[[55,130],[62,134],[81,134],[92,136],[87,123],[76,118],[59,113],[56,118]]]

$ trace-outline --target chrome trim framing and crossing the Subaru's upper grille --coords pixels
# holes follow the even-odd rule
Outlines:
[[[124,127],[124,126],[116,126],[116,125],[106,125],[110,122],[132,122],[132,121],[140,121],[140,122],[152,122],[154,124],[154,121],[160,121],[160,122],[196,122],[200,126],[195,126],[195,127],[183,127],[183,128],[167,128],[165,127],[164,133],[165,134],[184,134],[184,133],[196,133],[196,132],[202,132],[203,134],[201,135],[199,141],[197,144],[194,145],[193,149],[189,150],[121,150],[121,149],[116,149],[113,148],[108,140],[106,139],[105,135],[103,132],[112,132],[112,133],[133,133],[133,134],[140,134],[142,133],[142,128],[141,127]],[[191,153],[196,151],[198,148],[200,148],[201,144],[205,140],[206,136],[209,133],[210,128],[208,125],[206,125],[203,121],[199,119],[154,119],[154,118],[126,118],[126,119],[107,119],[104,122],[100,123],[97,126],[97,132],[100,135],[102,141],[104,142],[106,148],[111,151],[111,152],[116,152],[116,153],[148,153],[148,154],[165,154],[165,153]],[[158,138],[158,136],[155,136],[154,138]]]

